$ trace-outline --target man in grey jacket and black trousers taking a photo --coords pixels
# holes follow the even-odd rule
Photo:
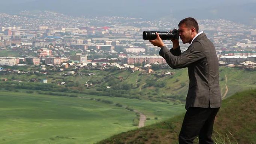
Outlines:
[[[185,52],[181,53],[179,40],[175,39],[171,39],[173,48],[168,50],[157,33],[156,39],[150,42],[161,48],[159,55],[171,68],[188,68],[187,111],[179,143],[193,144],[198,136],[199,144],[213,144],[213,123],[221,106],[219,63],[215,47],[203,31],[198,32],[198,23],[194,18],[185,18],[178,26],[180,39],[184,44],[190,44]]]

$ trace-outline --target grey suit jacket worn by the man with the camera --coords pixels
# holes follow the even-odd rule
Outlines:
[[[189,90],[186,109],[189,107],[218,108],[221,106],[219,88],[219,63],[213,43],[204,33],[197,36],[188,49],[159,51],[171,68],[188,67]]]

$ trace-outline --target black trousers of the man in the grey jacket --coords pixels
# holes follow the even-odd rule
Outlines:
[[[198,136],[199,144],[213,144],[213,123],[219,108],[190,107],[186,111],[179,135],[179,144],[193,144]]]

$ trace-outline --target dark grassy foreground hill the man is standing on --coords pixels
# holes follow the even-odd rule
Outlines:
[[[236,93],[223,100],[216,116],[217,144],[256,144],[256,89]],[[184,114],[144,128],[114,135],[97,144],[178,144]]]

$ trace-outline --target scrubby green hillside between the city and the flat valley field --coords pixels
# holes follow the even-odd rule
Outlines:
[[[29,71],[33,71],[30,69]],[[67,70],[68,71],[68,70]],[[171,72],[173,75],[165,75]],[[149,99],[150,101],[173,102],[174,100],[185,101],[188,92],[188,72],[187,69],[173,70],[171,68],[156,70],[153,74],[145,71],[131,72],[129,70],[86,70],[80,69],[75,75],[62,76],[64,72],[49,72],[43,74],[2,74],[2,78],[7,78],[9,82],[0,82],[2,89],[32,89],[42,90],[44,85],[35,86],[40,80],[47,79],[48,91],[71,92],[104,95],[112,97],[126,97]],[[88,75],[94,73],[94,75]],[[25,82],[36,79],[36,83],[27,87]],[[13,82],[23,81],[22,82]],[[256,88],[256,73],[239,68],[220,67],[220,88],[222,95],[231,96],[236,92],[246,89]],[[57,86],[57,83],[65,82],[65,86]],[[85,84],[92,84],[86,87]],[[38,84],[39,85],[39,84]],[[110,86],[110,89],[106,87]],[[1,89],[0,88],[0,89]],[[52,88],[52,89],[50,89]]]

